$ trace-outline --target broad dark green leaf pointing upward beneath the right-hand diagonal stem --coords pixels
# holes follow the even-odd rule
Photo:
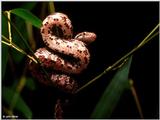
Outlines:
[[[132,57],[120,68],[97,103],[91,118],[109,118],[116,107],[122,93],[128,88],[128,74]]]

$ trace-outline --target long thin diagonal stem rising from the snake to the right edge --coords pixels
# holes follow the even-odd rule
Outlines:
[[[130,55],[132,55],[135,51],[139,50],[140,48],[142,48],[146,43],[148,43],[150,40],[152,40],[156,35],[159,34],[159,32],[156,32],[154,35],[152,35],[156,29],[159,27],[160,23],[158,23],[156,25],[156,27],[142,40],[142,42],[136,46],[135,48],[133,48],[130,52],[128,52],[126,55],[124,55],[123,57],[121,57],[118,61],[116,61],[113,65],[109,66],[108,68],[106,68],[102,73],[100,73],[98,76],[96,76],[95,78],[93,78],[91,81],[89,81],[88,83],[86,83],[85,85],[83,85],[82,87],[80,87],[75,93],[78,93],[79,91],[81,91],[82,89],[86,88],[88,85],[90,85],[91,83],[95,82],[97,79],[99,79],[100,77],[102,77],[104,74],[108,73],[109,71],[113,70],[118,64],[120,64],[122,61],[124,61],[126,58],[128,58]],[[151,36],[152,35],[152,36]]]

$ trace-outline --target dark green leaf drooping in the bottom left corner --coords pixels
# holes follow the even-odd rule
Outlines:
[[[14,92],[14,90],[11,88],[3,87],[2,98],[8,105],[14,103],[14,108],[21,112],[26,118],[32,118],[32,112],[30,108],[17,92]]]

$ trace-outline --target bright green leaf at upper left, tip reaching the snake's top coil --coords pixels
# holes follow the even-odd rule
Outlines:
[[[16,8],[11,10],[11,13],[31,22],[31,24],[37,28],[40,28],[42,25],[42,21],[26,9]]]

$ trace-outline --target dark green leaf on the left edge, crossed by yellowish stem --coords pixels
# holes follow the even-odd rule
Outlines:
[[[5,16],[2,14],[2,35],[8,37],[8,25]],[[4,78],[8,62],[8,46],[2,43],[2,78]]]

